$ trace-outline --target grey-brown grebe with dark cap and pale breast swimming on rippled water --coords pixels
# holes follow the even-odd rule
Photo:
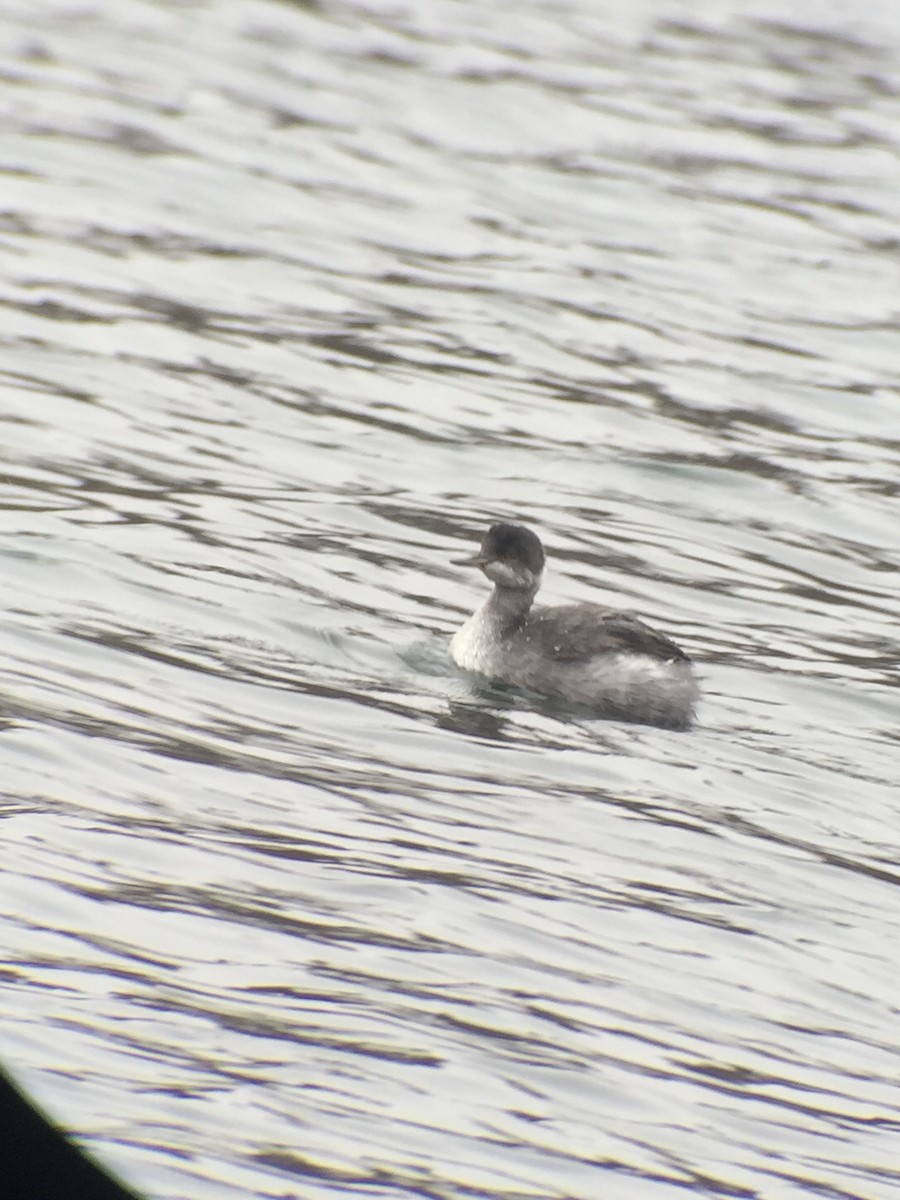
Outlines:
[[[629,612],[596,604],[533,607],[544,546],[521,524],[493,524],[476,554],[493,583],[481,607],[456,631],[457,666],[598,716],[688,728],[698,686],[691,660],[664,634]]]

